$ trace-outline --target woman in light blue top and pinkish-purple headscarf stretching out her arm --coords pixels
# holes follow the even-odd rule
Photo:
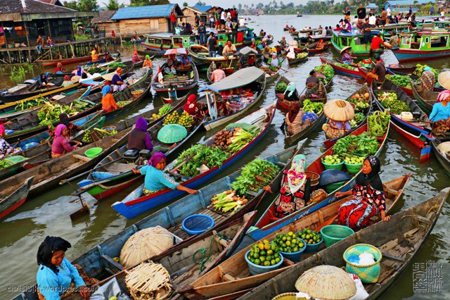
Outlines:
[[[189,189],[180,185],[178,182],[173,180],[169,174],[164,172],[166,168],[166,156],[161,152],[156,152],[148,160],[148,165],[143,166],[140,169],[131,169],[134,174],[145,175],[143,194],[153,194],[158,192],[160,189],[179,189],[180,191],[188,192],[189,194],[197,194],[197,190]]]

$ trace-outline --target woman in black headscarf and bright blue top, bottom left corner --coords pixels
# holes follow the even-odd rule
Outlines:
[[[91,296],[89,287],[98,280],[87,277],[79,265],[65,258],[72,245],[60,237],[46,237],[37,251],[37,296],[39,300],[59,300],[74,295],[78,290],[84,300]]]

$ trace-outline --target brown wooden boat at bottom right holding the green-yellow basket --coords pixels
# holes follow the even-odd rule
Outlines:
[[[383,255],[378,282],[364,285],[369,294],[366,299],[383,298],[383,292],[406,270],[432,232],[449,192],[448,187],[442,189],[439,195],[392,215],[387,222],[378,222],[359,230],[357,234],[293,265],[240,299],[272,299],[278,294],[296,291],[295,281],[302,273],[316,265],[345,268],[342,254],[350,246],[361,243],[377,247]],[[380,235],[380,232],[383,234]]]

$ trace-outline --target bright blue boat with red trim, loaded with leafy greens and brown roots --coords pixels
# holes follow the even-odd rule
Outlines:
[[[238,159],[242,158],[248,151],[250,151],[250,149],[252,149],[253,146],[255,146],[255,144],[257,144],[257,142],[262,139],[262,137],[264,137],[264,135],[266,135],[266,132],[267,130],[269,130],[271,122],[274,119],[275,110],[276,102],[269,106],[260,108],[258,111],[255,111],[254,113],[247,115],[245,118],[240,119],[238,123],[252,124],[261,129],[259,134],[252,140],[252,142],[248,143],[238,152],[227,158],[222,163],[220,168],[219,166],[210,168],[210,170],[207,170],[205,173],[202,173],[195,177],[183,176],[181,185],[184,185],[185,187],[191,189],[198,187],[199,185],[203,184],[203,182],[210,180],[212,177],[221,173],[230,165],[233,165],[236,161],[238,161]],[[207,146],[212,146],[212,144],[214,143],[214,137],[215,135],[201,143]],[[175,165],[176,160],[167,165],[167,170],[173,170]],[[117,211],[121,215],[124,215],[125,218],[134,218],[136,215],[148,211],[150,208],[154,208],[155,206],[163,204],[170,199],[174,199],[176,196],[183,194],[183,192],[178,189],[172,190],[167,188],[161,189],[160,191],[147,196],[142,196],[142,189],[143,185],[140,185],[137,189],[135,189],[127,197],[125,197],[125,199],[115,202],[113,204],[113,208],[115,209],[115,211]]]

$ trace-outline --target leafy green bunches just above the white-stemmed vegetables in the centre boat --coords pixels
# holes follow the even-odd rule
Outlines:
[[[242,168],[239,177],[233,182],[233,189],[241,196],[248,191],[258,192],[274,180],[279,172],[280,168],[273,163],[256,158]]]

